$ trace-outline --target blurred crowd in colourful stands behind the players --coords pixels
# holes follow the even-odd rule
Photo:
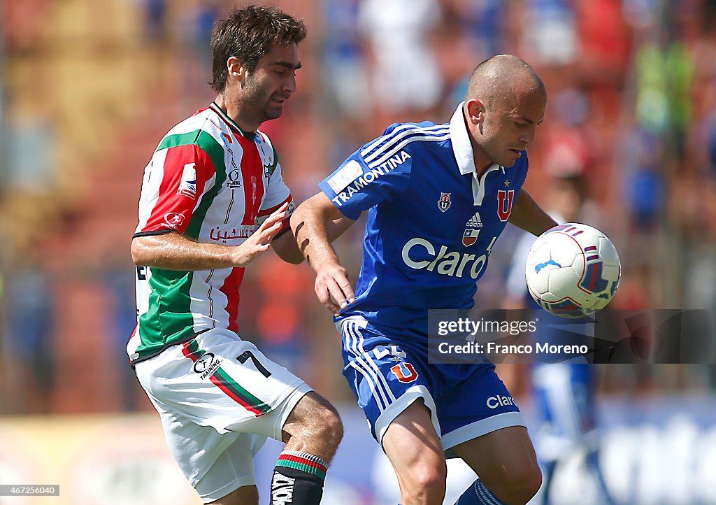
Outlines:
[[[526,188],[548,207],[555,178],[584,181],[584,221],[621,256],[613,306],[716,307],[714,2],[275,3],[309,29],[299,90],[262,128],[296,201],[391,122],[447,122],[473,67],[510,52],[549,93]],[[124,350],[142,171],[163,134],[213,100],[208,40],[232,5],[0,1],[0,413],[152,410]],[[361,228],[338,246],[354,278]],[[516,239],[498,241],[478,307],[503,303]],[[241,289],[242,335],[352,403],[309,268],[266,254]],[[708,365],[607,365],[599,393],[715,388]]]

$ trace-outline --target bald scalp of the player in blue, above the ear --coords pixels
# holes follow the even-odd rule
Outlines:
[[[498,54],[475,67],[465,101],[476,99],[482,101],[485,107],[490,107],[501,100],[512,100],[516,95],[536,92],[547,96],[544,83],[535,69],[512,54]]]

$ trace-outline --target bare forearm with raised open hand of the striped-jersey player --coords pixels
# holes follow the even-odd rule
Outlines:
[[[135,236],[132,261],[135,265],[167,270],[212,270],[246,266],[269,249],[271,239],[281,229],[287,204],[281,206],[251,236],[238,246],[203,244],[175,231]]]

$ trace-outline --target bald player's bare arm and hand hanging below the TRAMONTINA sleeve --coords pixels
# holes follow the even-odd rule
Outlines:
[[[354,302],[355,293],[348,271],[331,243],[354,222],[344,216],[324,193],[301,203],[291,216],[291,228],[299,249],[316,271],[316,295],[334,314]]]

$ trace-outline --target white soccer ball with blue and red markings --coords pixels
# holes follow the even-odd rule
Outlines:
[[[596,228],[566,223],[532,244],[525,264],[527,289],[559,317],[594,314],[609,303],[621,276],[614,244]]]

